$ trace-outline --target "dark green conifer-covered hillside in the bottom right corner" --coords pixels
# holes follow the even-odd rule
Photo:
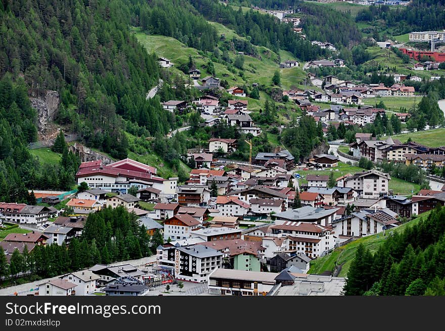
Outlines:
[[[346,295],[444,295],[445,208],[392,232],[374,254],[361,245],[349,268]]]

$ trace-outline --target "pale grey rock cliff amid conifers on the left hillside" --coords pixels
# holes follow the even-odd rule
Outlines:
[[[29,94],[31,107],[37,111],[37,130],[44,134],[59,109],[59,93],[52,90],[31,89]]]

